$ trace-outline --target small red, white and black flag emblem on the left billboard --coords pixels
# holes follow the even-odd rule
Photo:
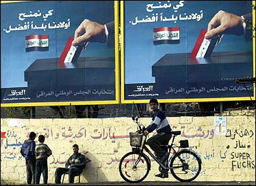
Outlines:
[[[49,35],[27,35],[25,48],[26,52],[49,50]]]

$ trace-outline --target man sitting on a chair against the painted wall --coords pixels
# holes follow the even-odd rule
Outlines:
[[[86,164],[90,162],[88,158],[86,158],[81,153],[78,153],[78,145],[73,145],[73,155],[68,158],[65,164],[65,168],[57,168],[55,170],[55,183],[60,183],[60,179],[62,178],[62,174],[68,172],[68,181],[69,183],[74,183],[75,175],[81,174],[83,169],[86,167]]]

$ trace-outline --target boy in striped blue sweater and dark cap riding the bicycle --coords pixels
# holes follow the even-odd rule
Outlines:
[[[168,159],[168,152],[165,151],[160,145],[168,144],[172,134],[170,131],[170,124],[168,123],[164,112],[158,109],[158,101],[155,98],[150,99],[149,106],[151,110],[153,110],[152,123],[146,130],[144,134],[147,135],[156,129],[157,134],[152,136],[147,140],[147,144],[151,147],[151,149],[155,152],[157,158],[163,163]],[[162,179],[168,178],[168,170],[161,170],[160,174],[156,174],[155,176],[160,177]]]

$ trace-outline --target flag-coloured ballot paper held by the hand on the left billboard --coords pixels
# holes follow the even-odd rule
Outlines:
[[[60,55],[60,63],[75,63],[79,58],[81,50],[85,50],[88,42],[86,44],[81,44],[79,46],[73,46],[74,38],[68,37],[68,41],[66,42],[66,46],[62,51],[62,55]]]

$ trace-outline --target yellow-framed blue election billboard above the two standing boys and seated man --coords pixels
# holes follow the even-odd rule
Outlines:
[[[118,11],[118,1],[1,3],[1,106],[118,104]]]

